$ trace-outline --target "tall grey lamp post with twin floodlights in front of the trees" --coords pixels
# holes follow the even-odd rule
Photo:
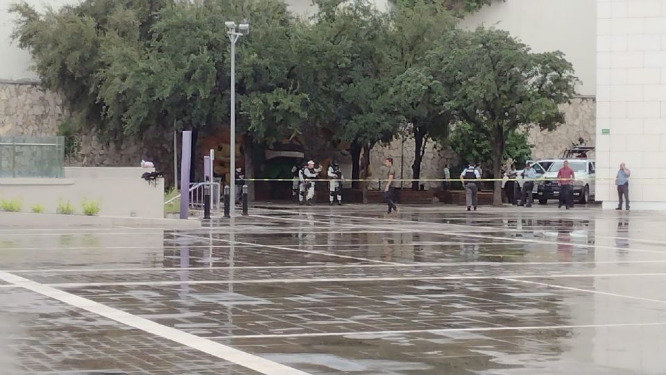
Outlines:
[[[229,183],[230,190],[230,216],[234,216],[236,208],[236,42],[241,35],[250,33],[250,25],[247,22],[236,25],[236,22],[228,21],[224,23],[227,27],[229,40],[231,41],[231,122],[229,125]],[[236,28],[238,27],[238,31]]]

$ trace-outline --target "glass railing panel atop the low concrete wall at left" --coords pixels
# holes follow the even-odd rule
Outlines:
[[[64,137],[0,137],[0,178],[61,178]]]

